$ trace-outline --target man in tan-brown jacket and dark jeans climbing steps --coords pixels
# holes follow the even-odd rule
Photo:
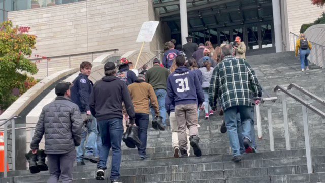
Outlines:
[[[159,104],[154,93],[153,87],[145,82],[145,75],[139,74],[136,82],[130,84],[128,87],[133,107],[136,115],[136,125],[139,127],[139,139],[141,145],[138,146],[138,153],[140,158],[146,159],[147,148],[147,131],[149,125],[149,100],[155,110],[156,116],[159,116]]]

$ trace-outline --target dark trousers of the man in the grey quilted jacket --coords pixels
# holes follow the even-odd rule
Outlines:
[[[48,154],[50,177],[47,183],[58,183],[61,177],[62,183],[72,182],[73,162],[76,159],[76,151],[72,150],[66,154]]]

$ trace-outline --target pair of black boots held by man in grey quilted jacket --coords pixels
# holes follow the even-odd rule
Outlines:
[[[44,150],[37,150],[37,154],[32,154],[30,150],[25,154],[25,157],[29,163],[30,173],[39,173],[40,171],[48,171],[49,168],[45,164],[46,154]]]

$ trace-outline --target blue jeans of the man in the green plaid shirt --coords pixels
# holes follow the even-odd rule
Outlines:
[[[239,113],[241,119],[241,129],[237,128],[237,116]],[[233,150],[233,156],[240,155],[240,143],[244,138],[250,140],[251,128],[251,106],[233,106],[224,111],[225,125],[228,131],[229,143]],[[241,139],[238,137],[238,132],[241,131]]]

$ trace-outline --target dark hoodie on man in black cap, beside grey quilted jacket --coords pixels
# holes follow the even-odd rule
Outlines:
[[[123,119],[122,102],[130,120],[135,119],[131,96],[125,82],[116,76],[104,76],[95,83],[90,94],[90,111],[98,121]]]

